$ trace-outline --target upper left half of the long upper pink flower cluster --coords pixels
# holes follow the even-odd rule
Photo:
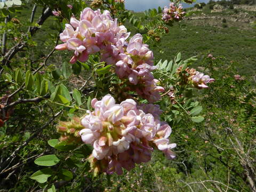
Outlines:
[[[56,46],[57,50],[74,51],[74,56],[70,62],[75,63],[77,60],[86,61],[89,54],[94,54],[102,50],[109,53],[108,56],[116,56],[118,50],[113,53],[115,45],[120,39],[123,41],[128,38],[130,33],[124,26],[118,26],[117,20],[113,20],[110,12],[105,10],[93,11],[89,7],[85,8],[80,15],[80,20],[71,17],[70,24],[66,24],[60,39],[64,44]],[[108,59],[105,55],[105,59]]]

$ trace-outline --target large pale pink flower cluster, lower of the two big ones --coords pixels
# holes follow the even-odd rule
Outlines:
[[[151,159],[153,147],[162,150],[167,158],[175,157],[171,151],[176,146],[169,143],[171,127],[159,120],[162,110],[152,104],[137,106],[132,99],[120,104],[111,95],[102,100],[93,99],[94,111],[82,118],[84,126],[79,134],[83,142],[93,146],[89,157],[94,173],[122,174],[135,164]]]

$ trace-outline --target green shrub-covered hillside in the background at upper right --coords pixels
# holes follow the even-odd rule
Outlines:
[[[219,16],[223,17],[223,14],[225,12],[219,13]],[[218,15],[218,13],[209,15]],[[163,57],[170,60],[178,52],[181,52],[185,58],[194,55],[202,58],[209,53],[214,57],[223,56],[230,61],[238,62],[241,74],[251,76],[256,70],[256,29],[251,23],[241,21],[185,20],[171,27],[170,33],[163,36],[153,50],[156,61]],[[200,62],[201,60],[198,60],[197,65],[200,65]]]

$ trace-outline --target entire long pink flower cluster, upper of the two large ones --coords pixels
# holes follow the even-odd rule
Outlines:
[[[149,102],[159,100],[159,92],[164,88],[157,86],[152,70],[156,69],[153,62],[153,52],[147,44],[143,44],[142,35],[136,34],[129,38],[130,33],[124,26],[118,26],[110,12],[105,10],[83,10],[80,20],[75,17],[66,24],[66,29],[60,34],[64,44],[56,46],[57,50],[74,51],[70,62],[77,60],[85,62],[89,54],[100,52],[101,61],[114,65],[119,78],[126,78],[133,91]],[[133,86],[137,85],[137,86]]]

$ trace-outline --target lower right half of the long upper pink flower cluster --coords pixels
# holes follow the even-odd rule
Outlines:
[[[160,99],[159,92],[164,92],[162,86],[157,86],[158,80],[154,79],[151,71],[156,69],[153,62],[153,52],[148,49],[147,44],[143,44],[141,34],[134,35],[125,52],[119,54],[116,62],[116,74],[119,78],[127,78],[135,86],[135,91],[142,98],[149,102]]]

